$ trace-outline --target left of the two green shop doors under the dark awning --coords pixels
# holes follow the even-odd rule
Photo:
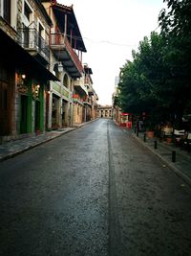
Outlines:
[[[21,95],[21,121],[20,132],[27,133],[27,113],[28,113],[28,97]]]

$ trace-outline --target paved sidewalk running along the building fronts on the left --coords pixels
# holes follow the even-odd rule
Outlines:
[[[92,121],[90,121],[92,122]],[[34,135],[23,139],[13,140],[11,142],[0,145],[0,162],[14,157],[15,155],[24,151],[29,151],[40,144],[53,140],[65,133],[68,133],[76,128],[81,128],[90,122],[82,123],[74,128],[58,128],[52,131],[47,131],[40,135]]]

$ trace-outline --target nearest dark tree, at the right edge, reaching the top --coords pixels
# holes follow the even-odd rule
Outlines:
[[[164,0],[168,9],[159,13],[161,35],[166,40],[165,61],[169,86],[173,86],[173,108],[181,116],[191,111],[191,1]]]

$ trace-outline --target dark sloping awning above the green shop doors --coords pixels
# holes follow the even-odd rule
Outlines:
[[[53,73],[0,29],[0,61],[39,81],[59,81]]]

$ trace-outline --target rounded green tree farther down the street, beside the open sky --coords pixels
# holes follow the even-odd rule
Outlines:
[[[166,107],[162,50],[162,37],[153,32],[139,42],[138,52],[132,53],[133,61],[127,61],[121,69],[119,99],[125,110],[136,114],[153,112],[154,116],[162,106]]]

